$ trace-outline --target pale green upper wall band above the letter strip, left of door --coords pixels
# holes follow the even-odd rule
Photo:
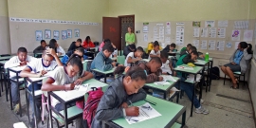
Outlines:
[[[108,0],[9,0],[9,17],[101,23]]]

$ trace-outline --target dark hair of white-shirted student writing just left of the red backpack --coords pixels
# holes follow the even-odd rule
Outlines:
[[[78,54],[72,54],[67,63],[66,64],[71,64],[71,65],[77,65],[79,67],[79,76],[82,75],[82,71],[83,71],[83,66],[82,66],[82,61],[81,61],[81,56],[79,56]]]

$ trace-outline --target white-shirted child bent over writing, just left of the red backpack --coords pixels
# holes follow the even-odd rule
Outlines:
[[[48,77],[46,82],[42,85],[42,91],[73,90],[76,84],[81,84],[93,78],[92,73],[87,71],[83,72],[81,58],[76,54],[73,54],[69,58],[66,66],[57,66],[49,76],[50,77]],[[64,110],[64,105],[55,99],[52,99],[51,105],[59,112]],[[75,102],[67,106],[70,107],[72,105],[75,105]],[[82,127],[82,117],[76,119],[76,127]]]

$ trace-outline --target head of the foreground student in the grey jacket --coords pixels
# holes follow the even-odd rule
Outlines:
[[[121,74],[124,72],[125,66],[118,66],[114,74]],[[138,89],[143,87],[147,80],[147,76],[145,74],[144,69],[142,69],[139,66],[132,66],[128,69],[128,71],[125,73],[125,76],[123,78],[123,85],[126,93],[128,95],[136,94]]]

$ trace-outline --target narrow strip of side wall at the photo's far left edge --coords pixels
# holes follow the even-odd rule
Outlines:
[[[8,1],[0,1],[0,54],[9,54]]]

